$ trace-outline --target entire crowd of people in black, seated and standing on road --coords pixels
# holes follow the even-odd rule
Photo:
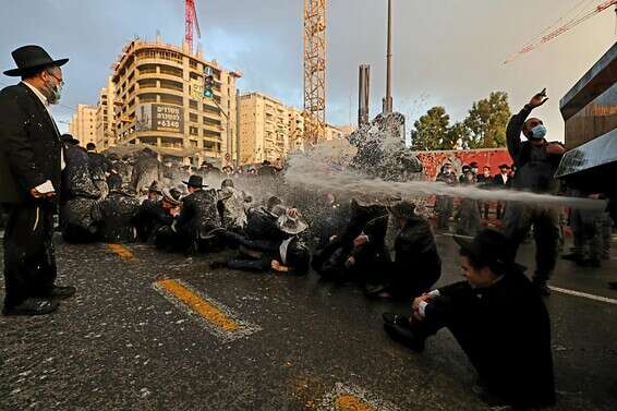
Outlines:
[[[433,289],[441,258],[431,223],[413,202],[371,193],[339,202],[335,193],[319,198],[308,193],[308,201],[286,204],[289,198],[271,195],[270,189],[283,182],[269,164],[250,170],[261,179],[242,190],[237,182],[244,177],[230,168],[204,164],[169,174],[147,154],[131,162],[96,153],[94,145],[81,147],[71,135],[60,135],[47,111],[59,99],[60,67],[68,60],[52,60],[37,46],[20,48],[13,57],[19,68],[5,73],[22,82],[0,92],[5,114],[0,118],[0,202],[9,210],[5,315],[48,314],[75,293],[56,285],[52,233],[59,208],[66,242],[150,243],[165,252],[214,255],[213,269],[305,275],[312,267],[324,281],[358,283],[368,298],[412,302],[411,313],[383,315],[394,339],[422,351],[430,336],[448,328],[475,367],[487,402],[522,408],[555,402],[551,324],[541,298],[548,293],[557,257],[555,208],[500,204],[500,232],[480,227],[485,203],[463,200],[458,232],[475,234],[455,238],[464,281]],[[438,180],[555,193],[553,176],[564,147],[548,143],[542,121],[529,118],[545,101],[545,93],[539,93],[508,124],[513,176],[507,165],[498,176],[486,168],[477,176],[472,164],[457,179],[445,165]],[[215,181],[220,184],[209,185]],[[438,228],[448,227],[452,200],[437,198],[436,210]],[[532,226],[536,267],[530,280],[516,255]],[[585,231],[576,244],[579,259],[590,238]],[[226,258],[219,258],[226,250]]]

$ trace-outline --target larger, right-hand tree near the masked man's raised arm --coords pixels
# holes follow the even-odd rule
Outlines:
[[[475,101],[463,121],[464,128],[469,131],[463,147],[505,147],[506,126],[510,116],[508,94],[505,92],[493,92],[488,98]]]

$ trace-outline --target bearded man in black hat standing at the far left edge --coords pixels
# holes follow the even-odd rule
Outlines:
[[[60,100],[61,65],[39,46],[12,52],[20,84],[0,92],[0,203],[9,204],[4,233],[4,314],[48,314],[75,293],[55,285],[53,214],[60,193],[62,143],[48,105]]]

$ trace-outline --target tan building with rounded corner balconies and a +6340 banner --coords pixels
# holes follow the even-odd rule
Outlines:
[[[204,75],[214,76],[204,98]],[[186,48],[135,39],[113,65],[116,144],[152,146],[164,161],[225,166],[237,152],[239,72]],[[108,96],[109,98],[109,96]],[[108,101],[109,105],[109,101]]]

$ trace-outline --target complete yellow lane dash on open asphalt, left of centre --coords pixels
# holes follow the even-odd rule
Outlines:
[[[153,285],[155,290],[187,315],[198,319],[210,334],[223,342],[246,337],[262,328],[241,321],[218,301],[198,292],[185,281],[166,279]]]

